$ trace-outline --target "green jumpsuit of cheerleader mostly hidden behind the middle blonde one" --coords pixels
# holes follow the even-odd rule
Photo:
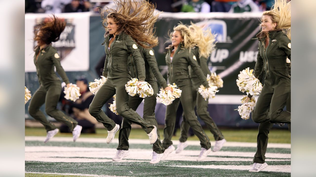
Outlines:
[[[199,48],[194,47],[193,52],[196,56],[197,63],[201,67],[204,76],[206,77],[207,74],[211,74],[208,66],[207,66],[207,58],[205,57],[199,57]],[[196,103],[197,107],[197,115],[204,121],[207,128],[211,131],[211,133],[214,135],[214,139],[216,141],[224,139],[224,136],[222,135],[222,132],[217,128],[215,122],[213,121],[212,117],[210,117],[210,113],[207,111],[209,101],[205,100],[201,94],[198,93],[198,88],[202,84],[202,82],[197,78],[196,74],[192,71],[190,68],[190,76],[193,86],[193,103]],[[185,117],[185,115],[183,115]],[[183,118],[185,120],[185,118]],[[182,121],[181,123],[181,134],[179,141],[185,142],[188,139],[188,131],[189,131],[189,124],[185,121]]]

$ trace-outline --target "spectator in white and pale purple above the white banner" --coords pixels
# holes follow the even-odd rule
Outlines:
[[[58,14],[61,13],[64,6],[70,2],[71,0],[43,0],[41,7],[45,9],[45,13]]]

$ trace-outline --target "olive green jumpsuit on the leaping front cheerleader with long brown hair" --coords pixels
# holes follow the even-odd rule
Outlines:
[[[149,134],[154,126],[148,124],[136,111],[128,106],[129,95],[125,90],[125,84],[131,80],[131,73],[127,66],[128,57],[130,55],[133,56],[138,68],[138,77],[141,81],[145,80],[144,59],[139,52],[136,42],[124,31],[116,35],[111,46],[108,46],[111,37],[113,37],[113,35],[106,32],[106,39],[104,41],[106,44],[106,60],[103,76],[107,77],[107,80],[95,94],[89,106],[89,113],[95,117],[98,122],[103,123],[108,131],[111,131],[115,127],[115,123],[102,111],[102,106],[116,94],[116,111],[118,114],[132,123],[140,125],[143,130]],[[110,47],[110,49],[108,49],[108,47]]]

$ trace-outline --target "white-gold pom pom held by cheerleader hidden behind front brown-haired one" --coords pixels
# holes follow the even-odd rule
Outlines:
[[[170,90],[165,90],[163,88],[160,89],[159,94],[157,94],[156,99],[160,101],[164,105],[170,105],[173,100],[176,98],[179,98],[181,96],[182,90],[180,90],[179,87],[175,83],[168,84],[168,87],[172,89],[172,92]]]

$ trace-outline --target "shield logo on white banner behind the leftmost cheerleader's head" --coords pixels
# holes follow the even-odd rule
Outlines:
[[[46,17],[47,18],[47,17]],[[39,24],[42,20],[46,18],[37,18],[35,19],[36,25]],[[60,34],[59,40],[53,42],[52,46],[58,50],[61,60],[63,60],[70,52],[76,48],[75,42],[75,25],[73,24],[72,18],[62,19],[66,21],[66,27],[64,31]],[[36,27],[36,25],[34,27]],[[34,41],[34,47],[37,45],[37,42]]]

